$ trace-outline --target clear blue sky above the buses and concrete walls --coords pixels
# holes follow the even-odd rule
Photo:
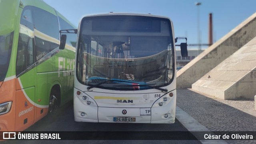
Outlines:
[[[169,17],[175,37],[187,37],[188,44],[198,43],[198,6],[201,43],[208,43],[208,18],[212,13],[213,41],[216,42],[256,12],[256,0],[44,0],[78,26],[91,14],[140,13]],[[180,41],[179,41],[180,42]],[[182,42],[182,41],[181,41]],[[197,47],[189,47],[197,48]]]

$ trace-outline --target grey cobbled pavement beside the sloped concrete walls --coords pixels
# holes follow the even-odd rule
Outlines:
[[[210,131],[256,131],[254,100],[220,100],[192,89],[177,89],[176,105],[178,107],[176,118],[179,119],[178,111],[184,110],[195,119],[192,121],[199,122]],[[193,123],[191,124],[193,126]],[[213,142],[217,143],[217,141]],[[225,140],[225,142],[255,144],[256,140]]]

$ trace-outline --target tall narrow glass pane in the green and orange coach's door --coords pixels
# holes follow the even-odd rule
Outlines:
[[[16,76],[34,64],[34,26],[32,10],[26,6],[20,18],[20,33],[16,58]]]

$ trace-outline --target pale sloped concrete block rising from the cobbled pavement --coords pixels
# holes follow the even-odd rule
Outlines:
[[[224,100],[254,99],[256,37],[192,84],[192,89]]]

